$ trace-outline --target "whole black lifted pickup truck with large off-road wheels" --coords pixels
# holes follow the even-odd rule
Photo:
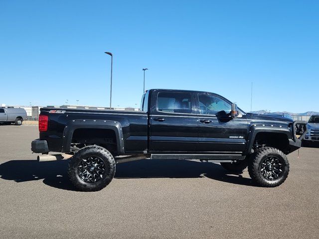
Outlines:
[[[143,95],[138,112],[42,108],[40,138],[31,149],[43,154],[39,161],[74,154],[68,175],[82,191],[106,187],[116,163],[145,158],[220,162],[230,171],[248,166],[258,185],[275,187],[286,180],[286,155],[301,147],[306,125],[246,114],[209,92],[154,89]]]

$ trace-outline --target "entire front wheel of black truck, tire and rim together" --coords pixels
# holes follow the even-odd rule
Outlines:
[[[277,148],[260,148],[249,161],[250,177],[262,187],[281,185],[289,174],[289,162],[286,154]]]

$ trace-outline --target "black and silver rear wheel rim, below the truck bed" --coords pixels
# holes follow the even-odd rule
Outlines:
[[[102,158],[89,156],[79,162],[78,175],[86,183],[96,183],[105,177],[106,165]]]

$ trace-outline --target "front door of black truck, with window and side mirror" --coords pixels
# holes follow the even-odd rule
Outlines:
[[[247,120],[231,118],[231,103],[214,94],[197,94],[198,152],[241,153],[246,147]]]

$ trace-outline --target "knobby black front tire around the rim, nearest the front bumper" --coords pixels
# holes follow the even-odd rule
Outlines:
[[[261,173],[261,164],[265,158],[275,156],[283,164],[282,173],[275,180],[267,180]],[[248,173],[252,180],[262,187],[277,187],[285,182],[289,174],[289,162],[287,155],[277,148],[263,147],[258,149],[251,157],[248,163]]]

